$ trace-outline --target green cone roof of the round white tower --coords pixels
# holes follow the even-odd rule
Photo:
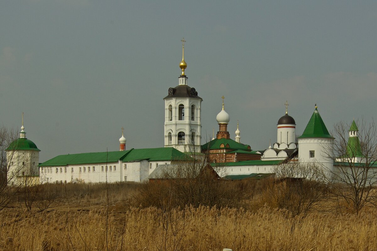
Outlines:
[[[314,110],[313,112],[313,115],[311,115],[309,123],[304,132],[300,137],[297,138],[333,138],[333,136],[331,136],[328,132],[325,123],[323,122],[321,115],[319,115],[319,112],[316,108],[316,110]]]

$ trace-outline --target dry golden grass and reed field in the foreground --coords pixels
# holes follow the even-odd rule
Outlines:
[[[377,250],[375,213],[140,208],[137,186],[51,185],[58,196],[43,211],[18,197],[0,211],[0,250]]]

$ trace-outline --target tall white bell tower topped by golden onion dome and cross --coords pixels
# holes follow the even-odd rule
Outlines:
[[[182,70],[178,86],[169,88],[165,101],[164,145],[181,152],[201,152],[201,103],[195,88],[187,85],[182,39]]]

